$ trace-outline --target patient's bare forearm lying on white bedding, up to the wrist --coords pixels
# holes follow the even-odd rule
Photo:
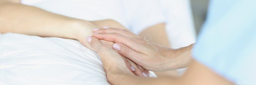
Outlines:
[[[0,32],[14,32],[42,37],[76,39],[76,26],[87,21],[69,18],[42,9],[18,3],[1,3]],[[93,26],[93,25],[92,25]],[[92,30],[93,27],[84,27]],[[73,33],[73,34],[72,34]],[[88,32],[88,36],[91,35]]]

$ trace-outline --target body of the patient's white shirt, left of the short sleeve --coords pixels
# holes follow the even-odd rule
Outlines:
[[[141,3],[144,3],[141,6]],[[165,18],[155,0],[22,0],[46,11],[84,20],[114,19],[135,33]]]

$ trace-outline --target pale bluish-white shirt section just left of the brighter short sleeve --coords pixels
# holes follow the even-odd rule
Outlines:
[[[145,28],[165,22],[165,17],[158,0],[137,0],[130,21],[131,31],[139,34]],[[146,3],[145,3],[146,2]]]

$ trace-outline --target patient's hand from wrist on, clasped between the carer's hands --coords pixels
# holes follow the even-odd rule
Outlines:
[[[78,21],[75,20],[74,22],[71,22],[71,25],[72,25],[72,27],[74,27],[71,31],[69,31],[69,33],[71,33],[71,34],[64,35],[64,36],[67,36],[67,37],[75,36],[75,38],[73,38],[73,39],[79,40],[84,46],[86,46],[87,48],[90,48],[91,50],[96,51],[96,52],[97,52],[97,50],[94,49],[93,47],[91,47],[88,44],[88,42],[86,41],[87,36],[92,36],[93,28],[103,27],[105,25],[112,25],[115,27],[120,27],[120,28],[126,29],[121,24],[119,24],[118,22],[111,20],[111,19],[91,21],[91,22],[84,21],[84,20],[78,20]],[[103,27],[103,28],[105,28],[105,27]],[[99,28],[97,28],[97,29],[99,29]],[[111,41],[105,41],[105,40],[100,40],[100,41],[105,44],[111,45],[111,46],[114,44],[114,42],[111,42]],[[134,72],[136,75],[149,77],[148,70],[145,70],[144,68],[138,66],[132,60],[129,60],[124,57],[123,57],[123,59],[126,63],[126,66],[132,72]]]

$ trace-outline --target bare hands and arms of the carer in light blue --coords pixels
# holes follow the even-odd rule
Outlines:
[[[231,81],[226,80],[220,75],[214,73],[211,69],[205,67],[203,64],[197,62],[191,58],[191,48],[192,45],[183,47],[180,49],[175,49],[171,51],[157,52],[152,51],[138,51],[137,48],[132,48],[130,42],[141,41],[145,43],[151,43],[143,41],[143,39],[138,38],[132,32],[127,30],[109,28],[100,29],[94,34],[93,37],[87,39],[88,43],[93,48],[99,48],[98,46],[92,45],[91,43],[99,43],[100,49],[106,49],[99,39],[116,42],[117,46],[113,46],[116,51],[98,51],[100,57],[103,59],[102,64],[107,73],[108,81],[112,85],[233,85]],[[117,33],[118,32],[118,33]],[[118,35],[118,36],[117,36]],[[127,42],[125,45],[122,45]],[[139,46],[138,43],[135,46]],[[146,47],[146,46],[144,46]],[[154,47],[146,47],[147,49],[155,49]],[[121,51],[121,49],[131,49],[128,51]],[[133,60],[138,65],[144,66],[145,69],[152,71],[167,71],[183,67],[189,67],[183,76],[180,78],[143,78],[134,76],[128,69],[122,66],[124,61],[121,59],[123,56]],[[145,54],[145,55],[143,55]],[[131,55],[131,56],[129,56]],[[133,56],[138,55],[138,56]],[[187,57],[190,56],[190,57]],[[182,59],[187,57],[188,61]],[[172,62],[166,62],[171,60]],[[143,62],[141,62],[143,61]],[[182,62],[180,62],[182,61]],[[165,62],[165,63],[159,63]],[[161,65],[159,67],[159,65]],[[158,66],[158,67],[157,67]],[[200,75],[198,75],[200,74]]]

